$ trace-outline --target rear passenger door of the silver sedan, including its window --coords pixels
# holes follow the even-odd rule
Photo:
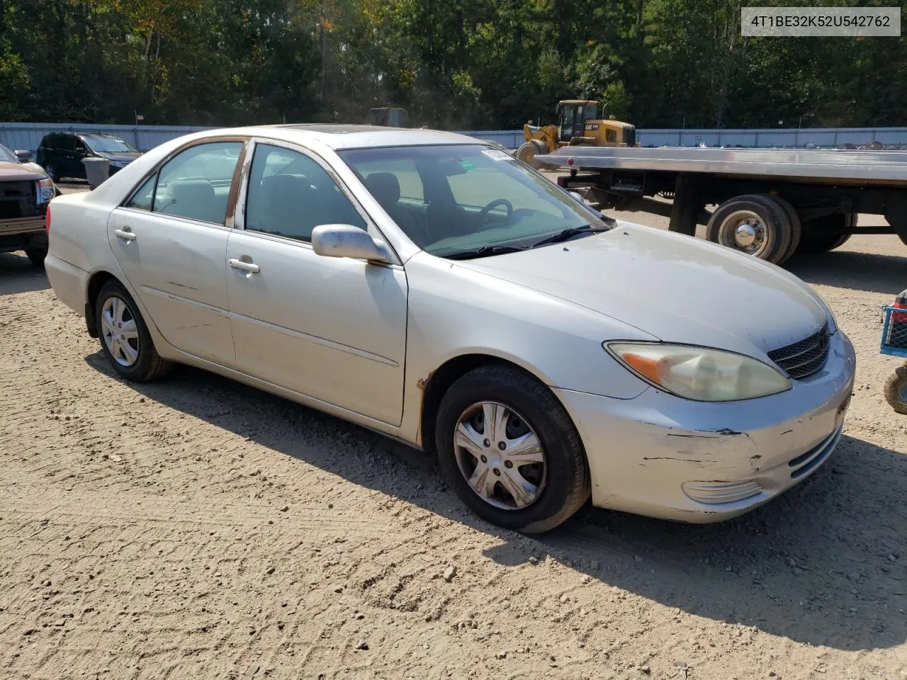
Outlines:
[[[224,281],[228,205],[244,140],[193,143],[164,162],[122,207],[107,232],[113,255],[171,345],[233,365]],[[232,190],[232,193],[231,193]]]

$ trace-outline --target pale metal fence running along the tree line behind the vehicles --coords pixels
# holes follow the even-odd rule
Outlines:
[[[82,125],[78,123],[0,122],[0,143],[10,149],[37,150],[50,132],[108,132],[148,151],[164,141],[209,128],[189,125]],[[461,134],[479,140],[497,141],[508,149],[522,143],[522,130],[467,130]],[[742,146],[742,147],[842,147],[883,146],[907,148],[907,128],[804,128],[759,130],[639,130],[643,146]]]

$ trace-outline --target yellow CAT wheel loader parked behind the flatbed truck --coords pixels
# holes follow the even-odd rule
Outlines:
[[[536,170],[541,162],[536,156],[551,153],[562,146],[641,146],[636,141],[636,128],[629,122],[599,118],[599,102],[568,99],[558,102],[555,112],[557,125],[522,126],[526,140],[517,150],[516,157]]]

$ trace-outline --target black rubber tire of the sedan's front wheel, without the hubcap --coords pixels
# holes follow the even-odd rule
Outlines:
[[[483,500],[460,469],[453,433],[461,415],[483,401],[500,403],[522,415],[541,442],[544,484],[538,497],[524,508],[498,508]],[[570,416],[547,387],[511,366],[484,365],[451,385],[438,409],[435,446],[444,477],[457,496],[483,520],[506,529],[524,533],[554,529],[579,510],[590,495],[586,454]]]

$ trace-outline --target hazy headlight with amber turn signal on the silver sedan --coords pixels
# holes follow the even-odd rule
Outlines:
[[[606,343],[630,371],[666,392],[699,402],[732,402],[785,392],[790,381],[749,356],[708,347]]]

